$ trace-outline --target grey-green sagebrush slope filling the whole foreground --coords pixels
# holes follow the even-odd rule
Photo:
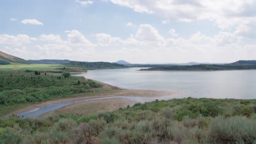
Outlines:
[[[255,113],[256,100],[184,98],[91,116],[12,116],[0,119],[0,143],[255,143]]]

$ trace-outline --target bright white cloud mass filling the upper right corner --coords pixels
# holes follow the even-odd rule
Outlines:
[[[138,13],[156,14],[171,21],[213,21],[222,29],[236,29],[246,37],[255,37],[256,1],[205,1],[205,0],[108,0]],[[165,21],[162,21],[165,23]],[[252,30],[254,33],[252,33]]]

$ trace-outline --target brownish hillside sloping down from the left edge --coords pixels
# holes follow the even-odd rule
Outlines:
[[[0,64],[10,64],[10,63],[30,64],[30,62],[26,61],[25,59],[11,56],[7,53],[0,51]]]

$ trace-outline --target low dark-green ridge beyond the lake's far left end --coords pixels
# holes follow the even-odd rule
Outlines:
[[[85,70],[92,70],[92,69],[121,69],[121,68],[128,68],[123,64],[118,63],[109,63],[109,62],[76,62],[71,61],[65,64],[67,67],[79,67]]]

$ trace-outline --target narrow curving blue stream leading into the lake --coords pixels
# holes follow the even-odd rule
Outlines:
[[[115,99],[115,98],[123,98],[123,99],[129,99],[133,101],[137,101],[137,103],[145,103],[147,101],[154,101],[156,99],[158,100],[167,100],[174,98],[172,96],[166,96],[166,97],[154,97],[154,98],[148,98],[148,97],[131,97],[131,96],[113,96],[113,97],[103,97],[103,98],[92,98],[92,99],[82,99],[82,100],[72,100],[72,101],[65,101],[61,103],[46,105],[42,107],[38,107],[37,109],[25,111],[22,113],[19,113],[19,117],[26,118],[26,117],[38,117],[40,115],[43,115],[44,113],[54,111],[57,109],[60,109],[61,107],[71,105],[71,104],[77,104],[82,103],[86,101],[95,101],[95,100],[103,100],[103,99]]]

